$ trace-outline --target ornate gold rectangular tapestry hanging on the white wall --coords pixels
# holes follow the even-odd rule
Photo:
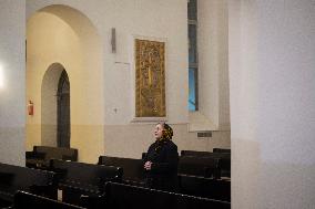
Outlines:
[[[135,39],[135,116],[165,117],[165,43]]]

